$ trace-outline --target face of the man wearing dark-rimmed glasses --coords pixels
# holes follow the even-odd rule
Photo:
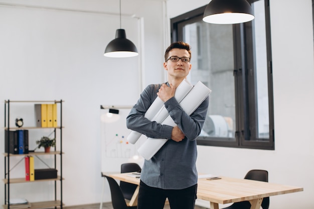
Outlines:
[[[190,57],[188,51],[185,49],[172,49],[169,52],[168,59],[173,56],[180,58]],[[181,59],[179,59],[178,62],[168,60],[164,63],[164,68],[168,71],[168,76],[173,78],[186,78],[191,70],[191,67],[192,65],[190,62],[183,62]]]

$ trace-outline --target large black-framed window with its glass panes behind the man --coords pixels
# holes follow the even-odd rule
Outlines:
[[[266,2],[265,2],[266,1]],[[172,41],[192,48],[189,80],[212,93],[199,145],[274,149],[269,4],[248,1],[255,19],[217,25],[205,7],[171,19]]]

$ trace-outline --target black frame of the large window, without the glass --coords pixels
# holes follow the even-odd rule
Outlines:
[[[260,0],[248,0],[250,4]],[[235,140],[207,140],[204,136],[197,138],[198,145],[237,147],[274,150],[274,116],[273,116],[273,81],[272,81],[272,58],[270,40],[270,12],[269,0],[264,0],[265,6],[265,31],[267,53],[267,79],[268,79],[268,111],[269,111],[269,138],[256,136],[256,112],[257,106],[255,94],[248,89],[255,88],[254,78],[248,74],[249,69],[254,69],[254,21],[241,24],[233,24],[234,42],[234,80],[235,80],[235,105],[236,105],[236,131]],[[183,41],[180,32],[182,25],[201,20],[207,5],[171,19],[171,41]],[[243,70],[244,69],[244,70]],[[213,137],[211,137],[213,138]]]

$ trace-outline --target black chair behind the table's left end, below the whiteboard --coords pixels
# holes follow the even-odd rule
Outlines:
[[[141,168],[138,164],[129,162],[121,164],[121,173],[128,173],[128,172],[140,172]],[[137,185],[133,183],[127,183],[124,181],[120,181],[120,188],[122,190],[123,196],[125,199],[130,200],[132,195],[136,189]]]

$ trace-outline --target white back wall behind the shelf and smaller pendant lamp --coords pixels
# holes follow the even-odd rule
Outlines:
[[[1,106],[4,108],[7,99],[65,101],[66,205],[100,202],[100,105],[133,105],[142,91],[139,66],[148,68],[145,82],[164,81],[162,11],[161,1],[121,1],[122,28],[142,57],[112,59],[104,57],[103,52],[119,28],[119,1],[0,1]],[[11,112],[12,121],[20,116],[29,123],[28,117],[16,114]],[[0,127],[4,127],[4,119]],[[4,129],[0,129],[0,135],[4,136]],[[0,149],[3,153],[4,145]],[[23,177],[23,166],[20,163],[12,173]],[[3,171],[4,160],[0,160],[0,167]],[[0,178],[4,178],[4,172]],[[11,198],[51,199],[53,190],[45,192],[45,186],[52,185],[11,184]],[[104,201],[110,200],[109,194],[107,189]],[[4,204],[3,183],[0,196],[0,204]]]

